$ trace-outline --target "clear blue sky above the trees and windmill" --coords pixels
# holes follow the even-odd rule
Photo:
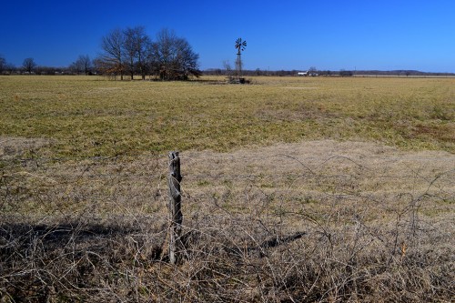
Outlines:
[[[167,27],[187,38],[202,69],[417,69],[455,72],[454,0],[42,0],[4,1],[0,54],[22,66],[68,66],[94,58],[110,30]]]

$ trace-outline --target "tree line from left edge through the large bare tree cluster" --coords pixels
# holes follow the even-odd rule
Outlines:
[[[100,51],[95,59],[78,56],[66,68],[38,66],[33,58],[25,58],[21,67],[8,64],[0,56],[0,74],[76,74],[124,76],[155,76],[162,80],[185,80],[200,76],[199,56],[187,39],[174,31],[162,29],[155,40],[147,35],[144,26],[116,28],[101,38]]]

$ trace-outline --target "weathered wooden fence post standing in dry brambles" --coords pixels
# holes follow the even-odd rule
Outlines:
[[[169,263],[176,264],[177,261],[177,247],[180,242],[180,234],[182,232],[182,195],[180,193],[180,182],[182,176],[180,175],[180,158],[178,152],[169,152],[169,177],[167,179],[169,185]]]

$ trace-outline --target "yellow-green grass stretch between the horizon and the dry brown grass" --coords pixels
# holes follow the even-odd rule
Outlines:
[[[254,85],[0,76],[0,136],[87,157],[331,138],[455,151],[455,79],[258,77]]]

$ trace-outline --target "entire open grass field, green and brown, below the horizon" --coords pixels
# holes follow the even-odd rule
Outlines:
[[[452,302],[455,79],[251,82],[0,76],[0,302]]]

